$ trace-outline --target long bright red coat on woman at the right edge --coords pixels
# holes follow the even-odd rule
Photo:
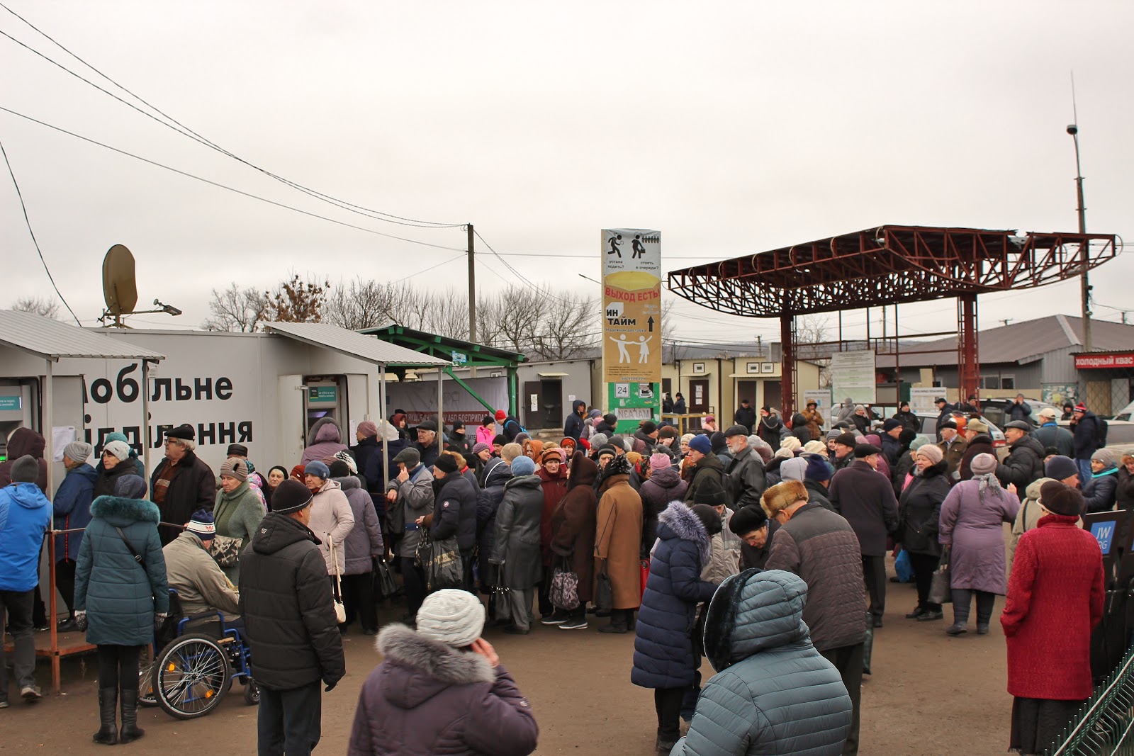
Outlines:
[[[1102,619],[1102,552],[1075,521],[1061,515],[1042,517],[1016,546],[1000,615],[1013,696],[1091,696],[1091,630]]]

